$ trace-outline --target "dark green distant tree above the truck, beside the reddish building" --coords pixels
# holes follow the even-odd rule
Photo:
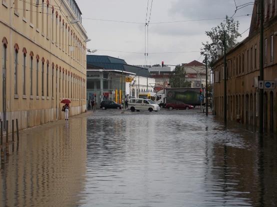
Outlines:
[[[171,88],[186,88],[190,87],[191,83],[185,80],[186,72],[184,67],[177,65],[169,77]]]

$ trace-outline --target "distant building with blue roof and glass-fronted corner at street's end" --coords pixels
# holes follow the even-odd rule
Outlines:
[[[87,55],[86,61],[87,101],[95,99],[98,106],[103,99],[121,103],[125,96],[138,97],[139,92],[154,90],[155,80],[150,78],[147,68],[106,55]]]

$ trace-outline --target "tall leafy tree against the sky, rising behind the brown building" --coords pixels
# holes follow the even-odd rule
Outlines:
[[[224,31],[226,33],[226,51],[229,51],[238,44],[237,38],[241,37],[238,32],[239,22],[234,21],[233,18],[226,16],[224,22],[220,25],[212,27],[210,31],[205,31],[205,34],[210,38],[211,42],[202,42],[203,47],[200,48],[201,55],[207,55],[207,63],[209,67],[212,67],[213,62],[220,57],[217,51],[221,49],[223,51],[223,36]]]

